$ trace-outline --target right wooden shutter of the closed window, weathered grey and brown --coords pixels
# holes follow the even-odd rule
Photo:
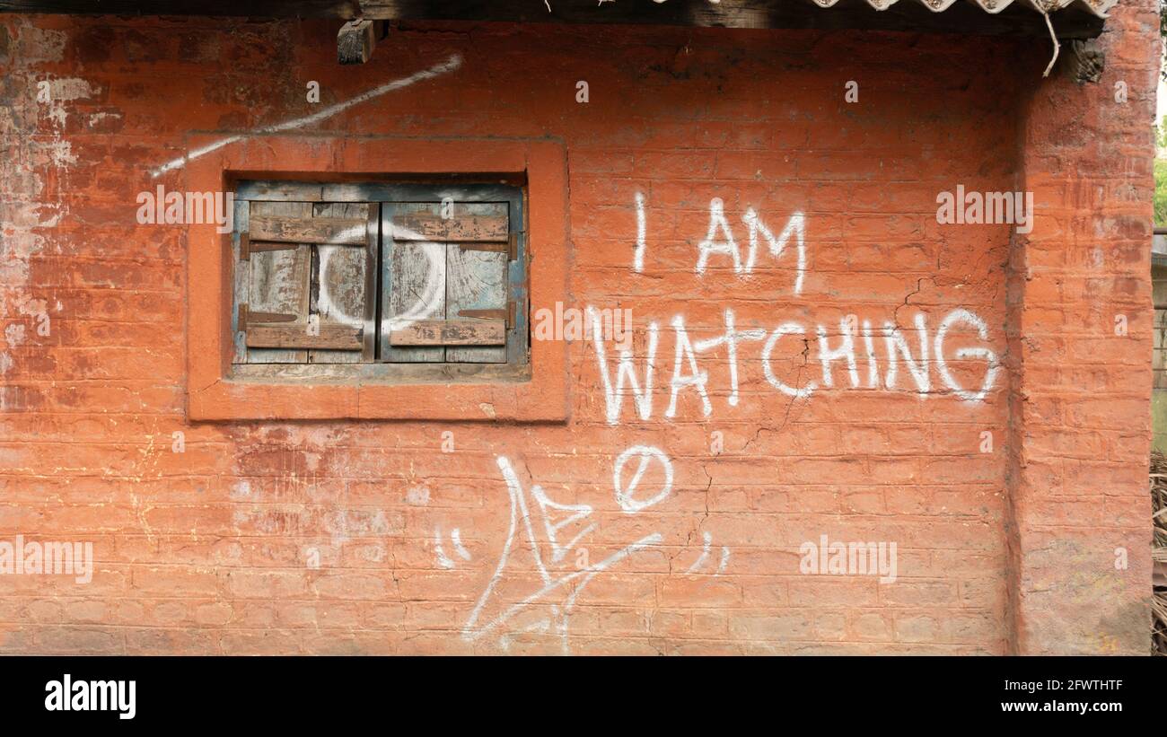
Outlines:
[[[382,359],[505,363],[517,243],[508,203],[386,203],[382,232]]]

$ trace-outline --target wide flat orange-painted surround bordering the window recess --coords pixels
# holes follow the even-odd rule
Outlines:
[[[567,152],[558,139],[190,133],[182,166],[159,176],[170,190],[231,192],[240,180],[368,182],[442,178],[450,170],[526,189],[529,309],[571,303]],[[231,377],[231,243],[214,223],[187,225],[186,410],[193,422],[406,420],[565,423],[571,417],[567,344],[532,341],[530,379],[489,375],[435,384]],[[440,389],[436,389],[440,387]],[[435,391],[436,389],[436,391]],[[180,389],[181,391],[181,389]]]

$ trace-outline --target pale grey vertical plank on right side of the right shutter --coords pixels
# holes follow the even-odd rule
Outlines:
[[[463,251],[457,244],[446,247],[446,318],[456,322],[466,310],[506,309],[506,260],[505,253],[487,251]],[[502,327],[496,343],[462,343],[476,348],[449,348],[446,360],[474,364],[505,363],[505,322],[502,320],[478,321]],[[498,345],[498,348],[481,348]]]

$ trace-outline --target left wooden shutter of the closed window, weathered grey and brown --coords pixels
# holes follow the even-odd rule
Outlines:
[[[236,362],[373,360],[379,206],[244,205],[235,250]]]

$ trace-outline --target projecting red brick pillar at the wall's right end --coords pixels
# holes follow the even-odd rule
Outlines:
[[[1051,80],[1025,105],[1021,176],[1048,224],[1014,243],[1009,290],[1011,590],[1021,652],[1146,652],[1146,121],[1162,45],[1147,33],[1159,26],[1155,6],[1132,6],[1099,40],[1106,65],[1097,85]]]

